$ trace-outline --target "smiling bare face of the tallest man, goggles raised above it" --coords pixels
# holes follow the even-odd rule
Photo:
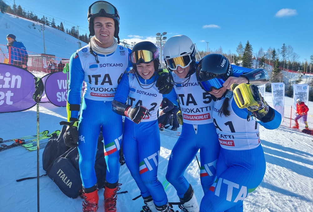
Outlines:
[[[102,48],[110,47],[114,42],[115,25],[113,18],[96,17],[94,29],[97,45]]]

